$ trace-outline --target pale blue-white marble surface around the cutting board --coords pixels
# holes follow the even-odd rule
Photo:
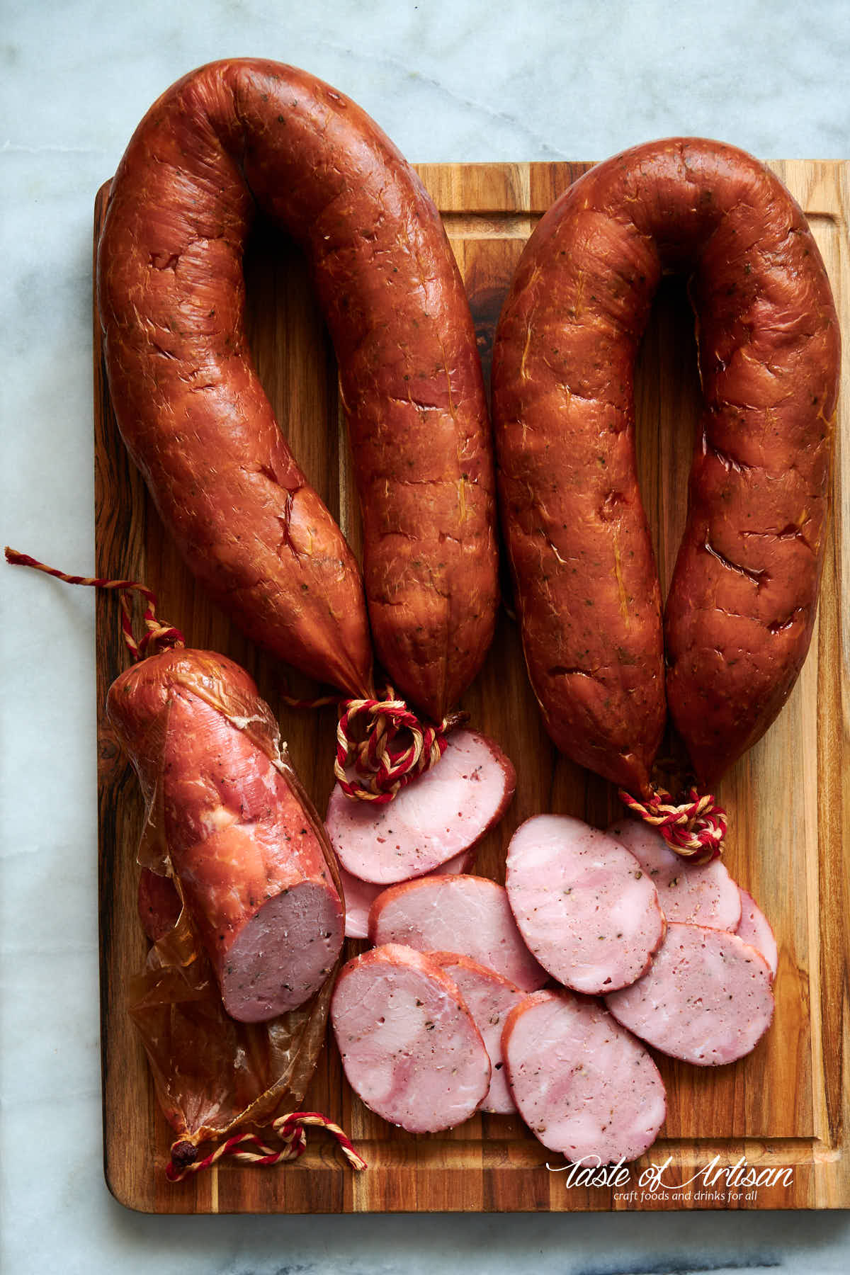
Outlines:
[[[603,158],[701,133],[850,150],[845,0],[3,0],[4,542],[93,570],[92,201],[209,59],[330,80],[412,159]],[[93,599],[0,567],[0,1264],[9,1275],[847,1270],[844,1214],[147,1218],[101,1169]],[[285,1170],[284,1170],[285,1172]]]

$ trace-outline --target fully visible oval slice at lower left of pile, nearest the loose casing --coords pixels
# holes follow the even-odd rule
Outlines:
[[[409,1133],[461,1125],[489,1089],[473,1016],[440,965],[398,943],[349,960],[330,1005],[349,1085]]]

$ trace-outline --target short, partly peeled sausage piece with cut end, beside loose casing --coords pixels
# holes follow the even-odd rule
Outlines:
[[[249,674],[212,652],[166,650],[110,687],[107,713],[148,803],[145,845],[171,863],[231,1017],[303,1005],[343,943],[321,825]]]

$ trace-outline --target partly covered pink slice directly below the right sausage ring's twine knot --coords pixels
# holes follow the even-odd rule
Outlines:
[[[740,895],[720,859],[688,863],[658,833],[636,819],[612,824],[608,835],[631,850],[658,890],[668,921],[731,929],[740,919]]]

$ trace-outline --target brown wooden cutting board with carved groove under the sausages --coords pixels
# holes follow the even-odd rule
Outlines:
[[[540,213],[586,167],[419,167],[464,274],[486,374],[493,328],[522,244]],[[772,167],[809,215],[850,343],[850,164],[782,161]],[[107,189],[97,198],[96,237]],[[259,231],[246,272],[260,376],[278,419],[288,422],[284,428],[310,482],[357,552],[361,529],[335,362],[305,264],[285,241]],[[127,975],[144,961],[147,946],[135,910],[141,801],[103,717],[107,687],[125,667],[125,654],[115,598],[98,597],[103,1146],[107,1183],[122,1204],[158,1213],[850,1205],[847,380],[845,358],[831,536],[812,649],[780,718],[719,789],[730,812],[725,861],[761,903],[779,940],[774,1025],[754,1053],[734,1066],[714,1071],[658,1058],[668,1118],[655,1146],[623,1170],[626,1178],[621,1174],[617,1184],[580,1184],[552,1172],[561,1158],[547,1153],[517,1118],[478,1116],[450,1133],[421,1136],[387,1126],[353,1096],[333,1042],[303,1105],[343,1125],[368,1162],[366,1173],[347,1169],[330,1140],[313,1131],[297,1164],[250,1169],[229,1163],[180,1186],[167,1183],[169,1130],[125,1012]],[[664,586],[684,520],[697,404],[693,321],[683,286],[665,282],[637,380],[641,482]],[[145,580],[159,594],[161,616],[182,629],[192,645],[223,652],[256,676],[264,696],[279,709],[292,759],[322,811],[331,785],[334,710],[296,713],[280,705],[273,662],[195,589],[117,436],[97,323],[94,418],[97,574]],[[301,692],[311,692],[306,682],[293,681]],[[514,829],[540,811],[577,815],[596,825],[619,813],[613,788],[558,756],[549,743],[529,690],[519,635],[506,613],[464,706],[473,725],[497,740],[517,770],[514,805],[482,844],[477,871],[503,881],[505,848]],[[349,954],[361,946],[349,942]],[[748,1184],[743,1169],[723,1172],[742,1158],[761,1184]],[[660,1177],[654,1164],[665,1165]],[[684,1186],[675,1191],[673,1183]]]

